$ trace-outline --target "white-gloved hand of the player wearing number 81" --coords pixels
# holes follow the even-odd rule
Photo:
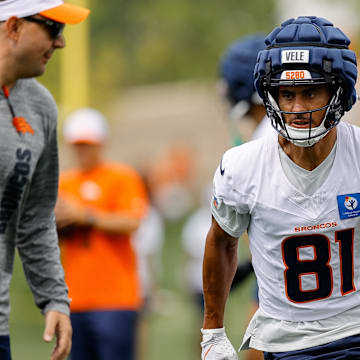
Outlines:
[[[237,353],[226,336],[225,328],[201,329],[201,360],[238,360]]]

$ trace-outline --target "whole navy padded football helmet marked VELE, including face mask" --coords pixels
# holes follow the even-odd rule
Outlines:
[[[336,126],[345,111],[356,101],[357,65],[350,40],[333,24],[315,16],[289,19],[265,39],[254,70],[255,88],[263,99],[272,126],[295,145],[308,147],[317,143]],[[285,112],[277,102],[281,85],[327,85],[329,103],[305,112]],[[318,127],[311,127],[312,114],[325,110]],[[286,124],[284,114],[309,114],[309,129]]]

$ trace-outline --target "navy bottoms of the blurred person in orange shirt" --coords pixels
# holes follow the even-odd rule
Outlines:
[[[136,311],[72,313],[71,360],[134,360],[137,317]]]

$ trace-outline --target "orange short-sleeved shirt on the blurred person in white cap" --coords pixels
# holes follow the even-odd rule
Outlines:
[[[89,172],[60,177],[59,196],[88,209],[141,218],[147,208],[144,185],[126,165],[106,163]],[[136,257],[130,235],[95,228],[70,228],[62,237],[65,279],[72,311],[136,310],[141,305]]]

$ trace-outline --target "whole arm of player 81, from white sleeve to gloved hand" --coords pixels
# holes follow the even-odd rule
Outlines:
[[[225,333],[224,310],[237,266],[238,238],[248,227],[250,214],[241,194],[233,189],[232,156],[228,152],[224,154],[214,176],[213,220],[203,262],[202,360],[238,359]]]

